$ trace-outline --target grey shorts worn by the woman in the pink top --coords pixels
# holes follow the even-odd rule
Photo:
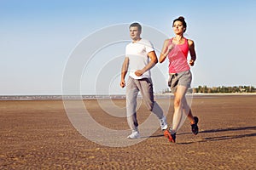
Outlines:
[[[182,71],[178,73],[170,74],[168,80],[168,86],[171,88],[172,93],[175,93],[177,90],[177,86],[184,86],[190,88],[190,84],[192,81],[191,71]]]

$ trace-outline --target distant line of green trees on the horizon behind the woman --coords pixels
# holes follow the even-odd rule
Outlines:
[[[166,88],[162,91],[163,94],[170,93],[170,89]],[[188,93],[202,93],[202,94],[239,94],[239,93],[256,93],[256,88],[253,86],[233,86],[233,87],[212,87],[198,86],[197,88],[189,88]]]

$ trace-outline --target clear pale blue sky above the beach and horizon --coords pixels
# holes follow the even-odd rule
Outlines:
[[[193,87],[255,87],[255,9],[254,0],[0,0],[0,95],[62,94],[67,62],[84,38],[134,21],[173,37],[172,20],[180,15],[188,24],[185,36],[195,41],[197,52],[191,69]],[[128,33],[127,28],[124,34]],[[119,88],[125,44],[105,47],[84,65],[81,94],[125,93]],[[112,58],[116,55],[119,58]],[[152,70],[162,71],[164,77],[158,80],[153,74],[155,92],[167,88],[166,65],[167,61]],[[98,77],[102,72],[102,77],[108,77],[108,72],[109,77]]]

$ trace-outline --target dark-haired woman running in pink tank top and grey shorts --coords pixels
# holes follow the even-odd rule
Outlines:
[[[169,59],[170,77],[168,86],[174,94],[174,114],[172,117],[172,127],[166,129],[164,134],[169,141],[175,143],[177,130],[182,126],[183,113],[189,117],[191,130],[195,135],[198,133],[197,123],[199,120],[197,116],[192,115],[192,111],[185,98],[185,94],[188,88],[190,88],[192,81],[190,66],[195,64],[195,44],[192,40],[183,37],[183,33],[187,29],[183,16],[173,20],[172,29],[175,37],[164,42],[159,61],[162,63],[166,57]],[[191,56],[189,64],[187,61],[188,54]]]

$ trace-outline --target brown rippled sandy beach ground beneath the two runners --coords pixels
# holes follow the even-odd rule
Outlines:
[[[72,114],[81,110],[76,101],[70,102]],[[157,102],[168,107],[171,124],[173,105],[169,99]],[[141,141],[126,139],[125,117],[108,114],[112,107],[124,111],[124,99],[107,102],[107,109],[96,99],[83,103],[98,124],[116,130],[119,138],[97,129],[93,133],[102,144],[85,138],[61,100],[0,101],[0,169],[256,169],[256,95],[194,97],[192,111],[200,118],[200,133],[193,135],[186,120],[176,144],[160,128],[147,136],[144,127]],[[150,112],[142,103],[137,114],[143,124]],[[111,140],[121,145],[109,146]]]

